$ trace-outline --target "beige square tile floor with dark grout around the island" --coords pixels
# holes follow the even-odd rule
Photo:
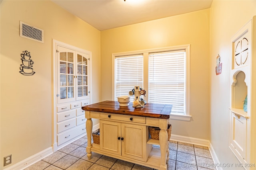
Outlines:
[[[86,146],[84,136],[25,170],[153,170],[97,153],[88,160]],[[208,147],[169,141],[169,151],[168,170],[215,170]]]

